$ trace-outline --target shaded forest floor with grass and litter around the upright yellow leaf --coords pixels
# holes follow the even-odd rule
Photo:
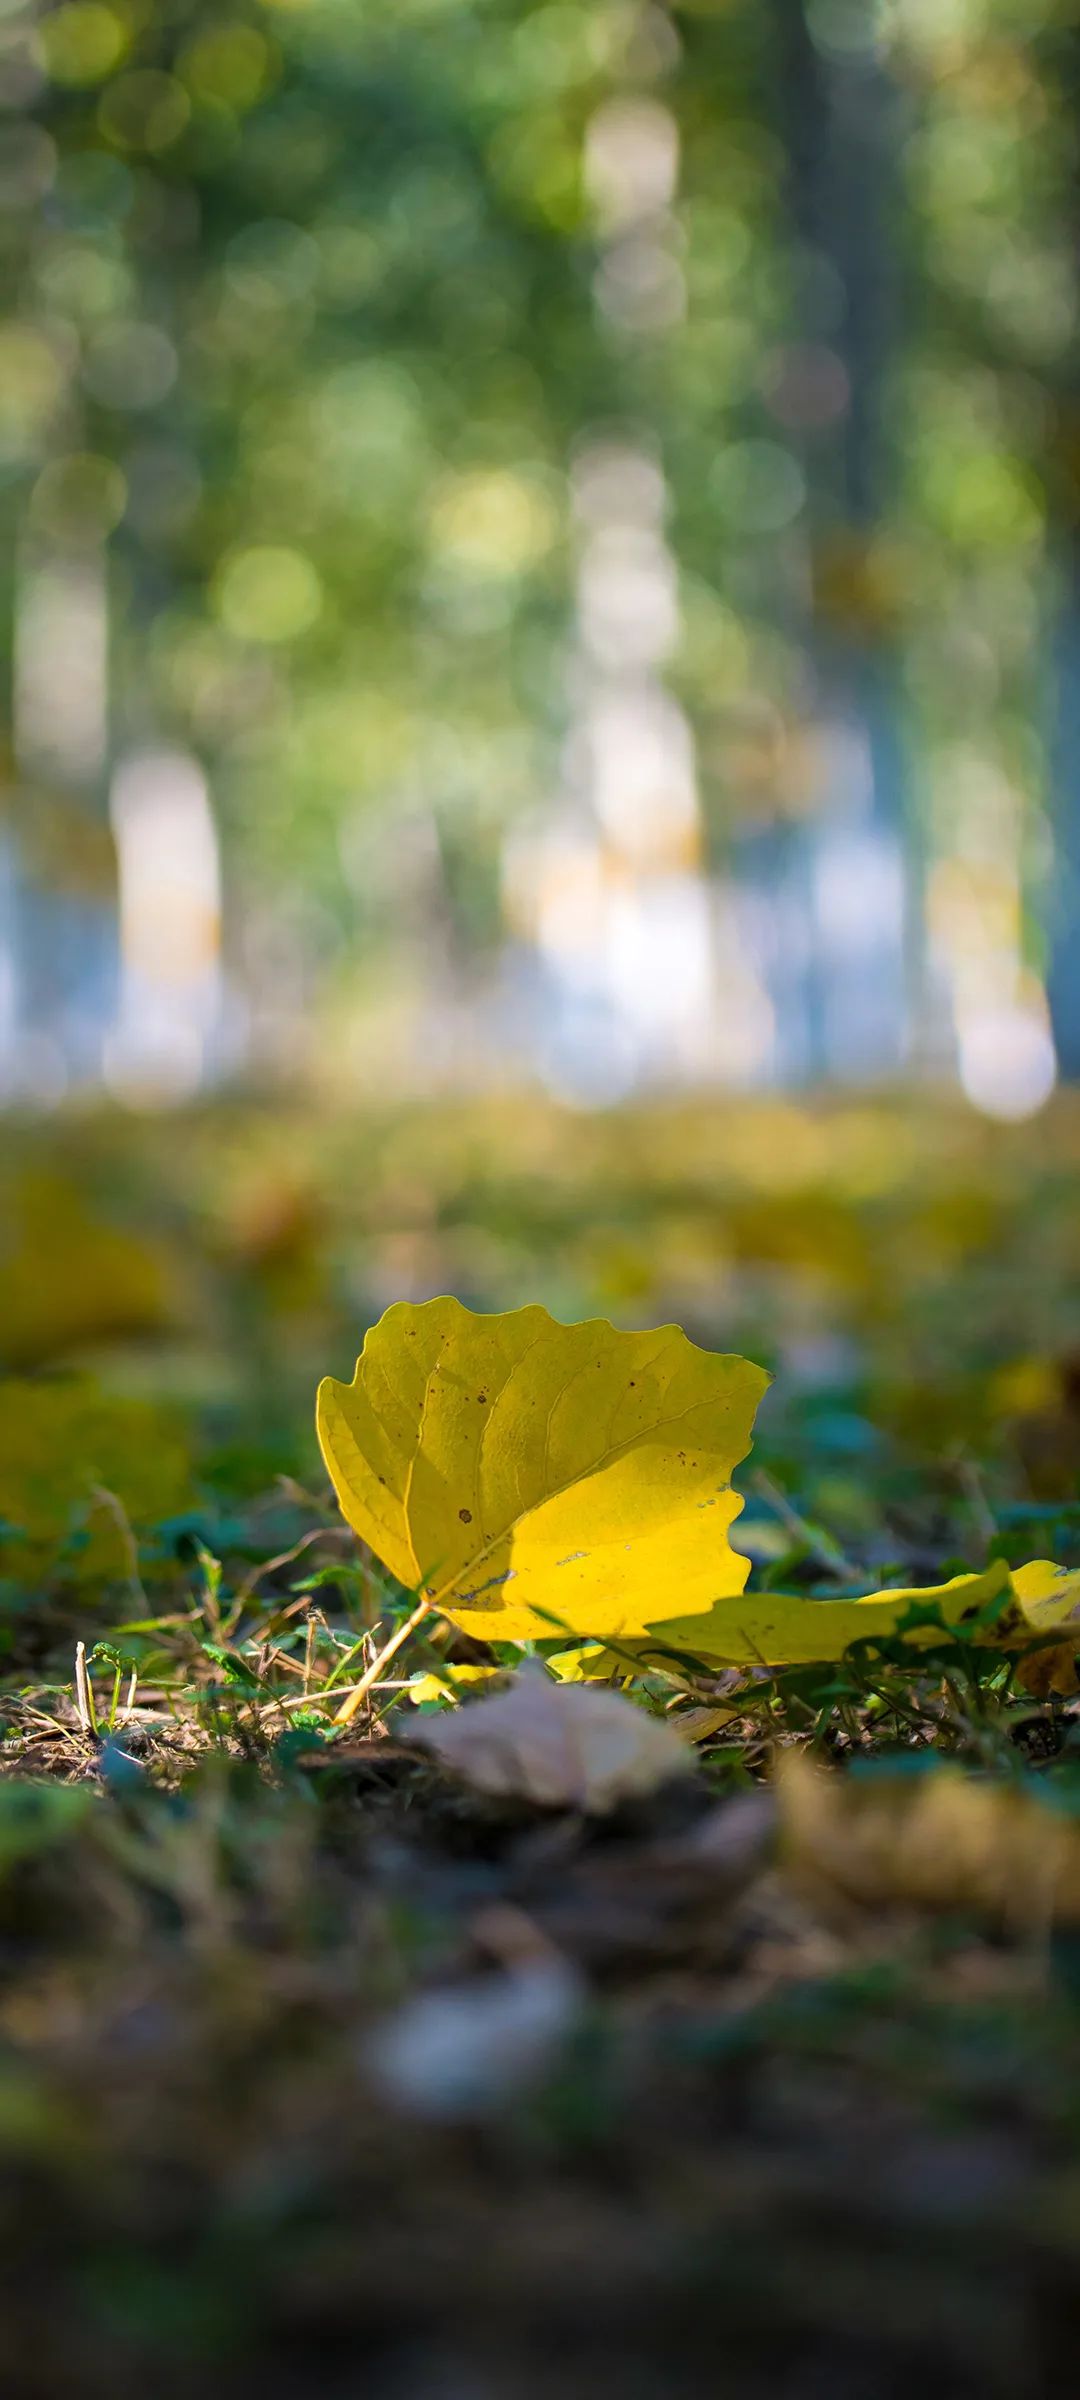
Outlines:
[[[446,1627],[334,1733],[406,1601],[343,1538],[312,1394],[401,1296],[674,1318],[775,1370],[756,1584],[1073,1567],[1078,1164],[1070,1102],[12,1138],[5,2390],[1068,2388],[1061,1658],[1061,1690],[965,1644],[626,1678],[694,1771],[607,1814],[475,1793],[418,1738],[475,1663]]]

